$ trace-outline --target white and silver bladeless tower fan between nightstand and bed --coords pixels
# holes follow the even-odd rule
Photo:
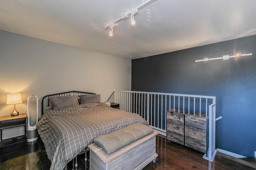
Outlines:
[[[30,99],[36,98],[36,109],[33,107],[30,110]],[[30,111],[34,112],[34,114],[31,114]],[[37,96],[29,96],[28,97],[28,107],[27,107],[27,142],[33,142],[38,139],[38,133],[37,133],[37,127],[36,124],[38,122],[38,97]]]

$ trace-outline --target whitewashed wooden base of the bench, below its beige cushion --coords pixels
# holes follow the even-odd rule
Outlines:
[[[99,145],[92,143],[88,146],[90,170],[141,170],[151,161],[156,161],[157,134],[153,132],[112,154],[107,154]]]

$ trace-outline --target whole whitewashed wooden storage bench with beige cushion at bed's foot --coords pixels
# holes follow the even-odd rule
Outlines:
[[[156,135],[152,128],[135,123],[94,139],[90,170],[141,170],[155,162]]]

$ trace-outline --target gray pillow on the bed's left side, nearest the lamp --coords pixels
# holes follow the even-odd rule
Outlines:
[[[51,97],[50,104],[52,105],[52,109],[61,109],[63,107],[78,105],[78,99],[79,97],[76,95]]]

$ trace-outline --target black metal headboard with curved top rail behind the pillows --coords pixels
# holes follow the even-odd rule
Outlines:
[[[79,95],[84,95],[84,94],[88,94],[88,95],[91,95],[91,94],[95,94],[95,93],[91,93],[91,92],[80,92],[80,91],[70,91],[70,92],[62,92],[62,93],[56,93],[56,94],[49,94],[47,96],[44,96],[42,98],[42,109],[41,109],[41,113],[42,115],[44,114],[44,100],[46,100],[47,102],[47,106],[50,106],[50,97],[56,97],[56,96],[68,96],[68,95],[76,95],[76,96],[79,96]]]

